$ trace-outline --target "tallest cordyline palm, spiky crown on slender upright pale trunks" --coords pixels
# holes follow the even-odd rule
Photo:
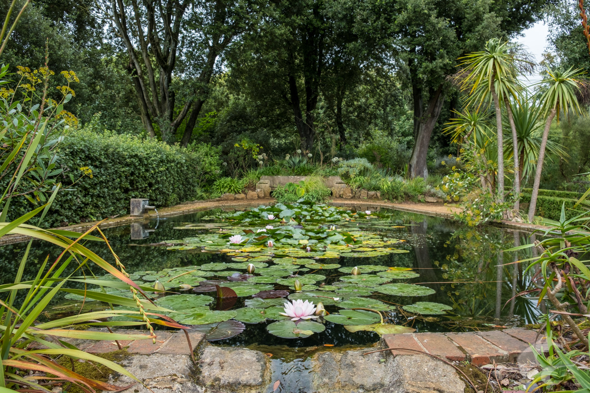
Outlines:
[[[494,103],[496,111],[496,128],[497,128],[497,148],[498,148],[498,190],[497,199],[500,203],[504,202],[504,160],[503,160],[503,130],[502,130],[502,113],[500,101],[506,104],[507,114],[510,118],[513,140],[516,141],[516,130],[512,127],[512,111],[510,110],[509,97],[517,97],[517,93],[522,89],[516,78],[516,62],[524,62],[522,58],[510,53],[510,47],[507,42],[493,38],[486,42],[486,48],[481,52],[473,52],[465,57],[460,65],[466,66],[468,72],[464,79],[462,88],[470,88],[471,98],[468,101],[470,105],[481,107],[489,97]],[[514,172],[516,180],[514,181],[514,193],[520,193],[520,183],[518,171],[518,162],[514,158]],[[515,210],[518,209],[518,198],[515,202]]]

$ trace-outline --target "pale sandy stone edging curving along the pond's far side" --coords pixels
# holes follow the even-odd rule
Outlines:
[[[171,207],[162,207],[162,209],[158,210],[160,217],[172,217],[172,216],[182,216],[183,214],[195,213],[200,212],[202,210],[209,210],[209,209],[233,209],[234,207],[248,207],[248,206],[258,206],[260,204],[272,204],[275,203],[276,200],[272,198],[264,198],[264,199],[242,199],[242,200],[199,200],[194,202],[185,202],[181,204],[177,204]],[[460,208],[454,205],[447,205],[444,203],[414,203],[414,202],[406,202],[406,203],[393,203],[393,202],[386,202],[382,200],[366,200],[366,199],[336,199],[328,201],[327,203],[332,204],[333,206],[370,206],[370,207],[385,207],[388,209],[395,209],[401,210],[403,212],[409,213],[419,213],[425,214],[427,216],[438,216],[444,217],[447,219],[453,219],[453,213],[460,212]],[[366,209],[365,209],[366,210]],[[100,224],[100,228],[110,228],[116,226],[127,225],[133,222],[143,222],[146,219],[153,219],[156,217],[156,213],[150,211],[149,213],[145,214],[143,217],[135,217],[135,216],[121,216],[121,217],[114,217],[112,219],[107,219],[103,223]],[[71,230],[74,232],[84,232],[90,229],[92,226],[99,223],[98,221],[88,222],[88,223],[80,223],[75,224],[67,227],[57,227],[53,229],[63,229],[63,230]],[[526,223],[516,223],[511,221],[502,221],[502,222],[493,222],[489,223],[494,226],[499,227],[506,227],[510,229],[519,230],[522,232],[533,232],[534,230],[548,230],[549,227],[541,226],[541,225],[534,225],[534,224],[526,224]],[[9,245],[13,243],[19,242],[27,242],[30,240],[29,236],[23,235],[8,235],[3,236],[0,238],[0,246],[2,245]]]

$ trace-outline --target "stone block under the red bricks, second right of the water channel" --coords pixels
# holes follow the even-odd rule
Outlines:
[[[382,393],[463,393],[465,383],[450,365],[427,355],[396,356]]]

